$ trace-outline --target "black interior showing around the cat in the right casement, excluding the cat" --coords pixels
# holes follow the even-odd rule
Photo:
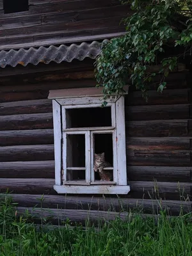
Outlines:
[[[113,166],[113,137],[112,133],[93,134],[94,154],[105,153],[105,160]],[[113,173],[113,170],[110,172]],[[99,173],[95,172],[95,180],[100,180]]]

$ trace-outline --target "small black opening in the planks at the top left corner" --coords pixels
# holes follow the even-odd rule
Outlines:
[[[24,12],[29,10],[28,0],[3,0],[4,13]]]

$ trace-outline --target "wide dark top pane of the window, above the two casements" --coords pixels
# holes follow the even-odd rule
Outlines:
[[[111,126],[111,107],[66,109],[67,128]]]

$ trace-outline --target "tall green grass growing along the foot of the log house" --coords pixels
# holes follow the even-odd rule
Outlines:
[[[16,216],[15,216],[16,215]],[[0,256],[180,256],[192,255],[190,214],[167,218],[135,214],[129,221],[116,219],[103,227],[49,229],[17,218],[9,198],[0,203]],[[43,221],[42,221],[43,222]]]

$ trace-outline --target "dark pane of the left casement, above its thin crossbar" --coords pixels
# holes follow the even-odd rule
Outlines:
[[[67,134],[67,168],[85,168],[85,136],[84,134]]]

